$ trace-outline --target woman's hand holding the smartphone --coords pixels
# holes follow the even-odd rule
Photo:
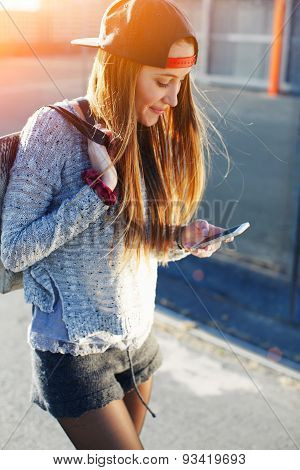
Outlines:
[[[211,256],[215,251],[217,251],[221,245],[222,241],[215,241],[213,244],[208,245],[204,248],[197,248],[191,250],[191,246],[196,243],[201,242],[205,238],[212,237],[217,233],[222,232],[224,229],[222,227],[216,227],[215,225],[209,224],[206,220],[196,219],[189,225],[186,225],[181,232],[181,242],[183,247],[190,251],[191,254],[197,256],[198,258],[207,258]],[[234,240],[234,237],[230,237],[227,240],[223,240],[224,243],[229,243]]]

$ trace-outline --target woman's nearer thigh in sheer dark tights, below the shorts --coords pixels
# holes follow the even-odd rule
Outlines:
[[[57,421],[80,450],[144,450],[123,400],[89,410],[78,418]]]

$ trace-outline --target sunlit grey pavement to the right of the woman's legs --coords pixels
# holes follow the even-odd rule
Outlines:
[[[271,361],[274,369],[264,366],[263,358],[242,350],[240,355],[235,347],[226,351],[215,344],[218,339],[201,339],[205,333],[190,321],[160,308],[156,325],[165,361],[152,408],[161,420],[154,428],[148,418],[146,448],[159,449],[161,443],[167,449],[299,448],[297,372]]]

